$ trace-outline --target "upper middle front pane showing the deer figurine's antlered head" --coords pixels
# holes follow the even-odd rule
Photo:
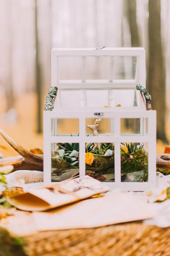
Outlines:
[[[114,119],[113,118],[86,118],[86,135],[105,134],[113,136],[114,134]]]

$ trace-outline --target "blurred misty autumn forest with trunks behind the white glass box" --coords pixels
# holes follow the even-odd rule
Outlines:
[[[0,128],[23,147],[43,145],[51,48],[59,47],[144,47],[157,152],[170,143],[170,0],[0,0],[0,36]],[[2,153],[16,155],[9,146]]]

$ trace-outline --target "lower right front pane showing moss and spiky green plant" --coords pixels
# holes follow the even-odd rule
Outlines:
[[[121,181],[148,181],[147,143],[121,143]]]

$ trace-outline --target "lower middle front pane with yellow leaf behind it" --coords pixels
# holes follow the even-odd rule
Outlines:
[[[114,182],[113,143],[86,143],[85,173],[102,182]]]

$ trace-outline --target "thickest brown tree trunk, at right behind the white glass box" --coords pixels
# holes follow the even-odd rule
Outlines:
[[[157,139],[168,143],[165,134],[165,64],[161,45],[161,3],[149,0],[149,66],[147,89],[157,111]]]

